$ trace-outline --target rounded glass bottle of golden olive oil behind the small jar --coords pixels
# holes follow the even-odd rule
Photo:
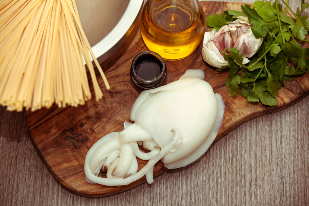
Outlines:
[[[205,17],[198,0],[148,0],[141,34],[149,50],[166,60],[192,54],[203,38]]]

